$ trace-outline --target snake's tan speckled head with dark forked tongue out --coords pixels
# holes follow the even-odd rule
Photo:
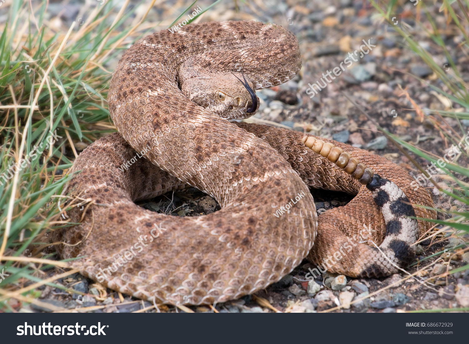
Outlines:
[[[259,98],[254,83],[242,73],[206,73],[203,77],[186,78],[182,92],[197,105],[227,120],[239,120],[254,115]]]

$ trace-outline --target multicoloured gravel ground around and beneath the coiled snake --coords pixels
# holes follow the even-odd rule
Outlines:
[[[94,6],[92,0],[87,0],[86,3]],[[197,5],[204,9],[210,3],[200,1]],[[65,10],[64,4],[67,6]],[[346,92],[381,127],[401,137],[404,141],[416,144],[421,149],[439,156],[443,156],[450,148],[450,145],[439,134],[438,127],[435,127],[428,119],[423,121],[420,119],[401,88],[406,90],[408,96],[414,99],[423,111],[458,109],[461,108],[460,105],[446,98],[437,97],[427,82],[443,90],[447,90],[446,86],[437,80],[432,71],[413,52],[402,45],[402,38],[393,30],[388,30],[386,23],[374,22],[373,10],[366,1],[255,0],[248,5],[239,3],[238,5],[242,6],[240,12],[236,12],[234,2],[224,1],[207,12],[203,21],[256,19],[278,23],[295,33],[303,55],[303,68],[293,80],[271,89],[257,91],[261,104],[259,111],[250,121],[280,125],[347,142],[374,151],[401,165],[410,174],[418,175],[418,170],[408,158],[402,156],[399,150],[377,130],[376,125],[350,104],[341,93]],[[71,21],[76,20],[78,15],[86,16],[87,7],[81,6],[80,1],[62,1],[62,3],[52,1],[50,6],[49,20],[55,22],[58,28],[67,27]],[[406,10],[413,10],[411,7],[411,4],[410,7],[404,7],[404,13]],[[173,7],[165,4],[152,10],[148,17],[148,27],[151,27],[152,31],[166,28],[177,16],[179,8],[182,8],[180,4]],[[139,8],[137,11],[140,10],[143,9]],[[434,20],[444,32],[446,47],[453,55],[453,59],[457,61],[457,68],[463,75],[463,79],[469,80],[469,67],[467,67],[469,58],[461,50],[456,49],[463,40],[461,33],[451,26],[446,26],[446,20],[438,12],[438,6],[432,7],[431,10]],[[112,19],[111,16],[109,20]],[[405,16],[402,19],[411,26],[415,24]],[[159,23],[160,21],[163,22]],[[132,22],[132,17],[129,18],[130,22]],[[153,23],[159,23],[159,25],[150,26]],[[431,38],[422,30],[415,30],[414,34],[419,44],[430,52],[434,60],[438,61],[442,67],[445,66],[448,74],[451,74],[446,57],[440,49],[437,49]],[[370,46],[369,53],[363,55],[362,58],[356,57],[357,61],[354,61],[350,68],[328,83],[318,94],[307,94],[309,83],[318,82],[322,73],[340,66],[340,63],[348,56],[348,52],[354,53],[363,41]],[[112,65],[106,66],[106,68],[112,67]],[[409,73],[417,75],[423,81]],[[464,109],[456,111],[462,110]],[[459,128],[456,120],[449,118],[436,120],[439,127]],[[469,121],[462,123],[464,131],[467,132]],[[459,129],[459,132],[462,131]],[[417,161],[421,165],[426,165],[424,160],[417,159]],[[463,156],[459,158],[458,163],[468,164]],[[433,178],[437,182],[444,180],[438,175]],[[427,188],[438,207],[464,209],[461,202],[444,197],[435,187],[427,185]],[[350,200],[348,195],[325,193],[320,190],[313,191],[313,195],[318,213],[344,205]],[[212,197],[197,189],[166,194],[144,202],[141,206],[174,216],[201,216],[220,209]],[[439,216],[443,218],[442,215]],[[451,233],[447,234],[447,237],[426,239],[421,242],[417,246],[416,261],[446,248],[464,244],[461,239],[449,238]],[[466,242],[469,240],[467,235],[465,239]],[[255,297],[246,296],[239,300],[219,304],[216,305],[216,309],[219,312],[230,313],[265,313],[274,312],[274,309],[282,312],[311,313],[345,305],[345,308],[333,311],[386,313],[402,310],[469,307],[469,270],[466,270],[465,274],[455,273],[446,278],[432,278],[425,285],[421,283],[423,277],[439,275],[446,269],[461,267],[468,262],[468,254],[437,255],[407,270],[409,273],[414,273],[421,269],[416,277],[385,288],[406,277],[407,274],[402,272],[382,279],[353,279],[325,272],[318,279],[308,282],[305,274],[308,268],[314,266],[304,260],[291,274],[258,292]],[[422,269],[425,266],[427,268]],[[54,269],[48,271],[50,276],[56,273]],[[152,306],[149,302],[105,290],[79,274],[61,279],[58,283],[75,289],[77,293],[70,295],[59,289],[43,286],[40,298],[45,302],[70,310],[102,306],[95,307],[99,309],[90,308],[90,312],[133,312]],[[379,290],[381,291],[375,293]],[[84,296],[79,292],[84,293]],[[370,294],[369,298],[352,304],[351,307],[347,306],[350,301]],[[266,301],[271,306],[266,306]],[[195,312],[212,311],[209,307],[190,308]],[[23,307],[22,310],[26,312],[48,311],[46,308],[36,306]],[[174,307],[167,306],[161,306],[159,310],[176,311]],[[155,311],[154,308],[147,310],[147,312]]]

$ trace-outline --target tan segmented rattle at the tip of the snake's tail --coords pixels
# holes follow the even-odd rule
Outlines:
[[[324,142],[312,136],[304,136],[301,142],[315,153],[332,161],[360,183],[366,185],[371,182],[374,174],[373,170],[361,164],[356,157],[352,157],[350,153],[344,152],[343,149],[334,146],[331,142]]]

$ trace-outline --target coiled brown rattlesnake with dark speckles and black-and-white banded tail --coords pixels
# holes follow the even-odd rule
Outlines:
[[[206,22],[137,41],[114,71],[108,96],[123,138],[103,137],[76,159],[71,172],[82,172],[63,194],[88,203],[68,210],[79,224],[53,233],[60,256],[83,255],[70,266],[137,298],[211,304],[279,281],[309,252],[314,262],[323,262],[363,225],[371,230],[369,239],[383,242],[385,217],[371,191],[330,157],[305,147],[301,133],[227,120],[255,113],[251,88],[286,82],[300,67],[295,36],[274,24]],[[410,202],[432,206],[424,189],[408,188],[412,178],[399,166],[325,141],[393,180]],[[387,214],[381,251],[371,242],[356,243],[330,271],[379,277],[411,258],[408,241],[416,239],[416,222],[411,232],[400,227],[414,213],[395,184],[376,175],[368,184]],[[188,186],[212,195],[222,209],[174,217],[134,203]],[[357,196],[318,218],[308,187]],[[404,201],[401,209],[390,210],[396,199]],[[422,208],[415,213],[435,217]],[[394,214],[401,221],[397,227],[389,225]],[[407,241],[397,240],[406,235]]]

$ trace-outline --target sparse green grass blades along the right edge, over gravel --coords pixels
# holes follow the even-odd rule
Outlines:
[[[397,0],[390,2],[371,0],[371,4],[377,10],[376,18],[381,22],[385,22],[385,25],[387,25],[387,22],[391,24],[390,18],[392,15],[399,14],[400,8],[402,9],[401,5],[406,6],[404,1],[402,1],[401,4],[401,2]],[[439,29],[437,23],[434,21],[425,2],[420,0],[416,2],[416,5],[417,6],[415,7],[410,6],[412,10],[409,11],[408,8],[406,8],[407,10],[405,11],[407,15],[409,13],[414,13],[414,17],[412,19],[416,22],[415,28],[410,27],[402,20],[400,26],[391,25],[393,26],[393,29],[403,37],[404,47],[415,52],[415,54],[431,68],[434,73],[431,79],[436,80],[436,82],[428,82],[418,78],[417,76],[415,77],[435,91],[437,94],[436,97],[449,104],[450,108],[446,109],[446,111],[429,109],[423,110],[405,90],[403,90],[403,94],[406,95],[410,103],[413,105],[418,118],[420,118],[422,122],[424,120],[428,121],[435,128],[438,128],[440,137],[444,142],[446,149],[450,148],[452,145],[458,147],[458,144],[461,141],[464,142],[464,139],[469,135],[467,129],[464,129],[461,124],[461,120],[469,119],[469,84],[464,80],[459,72],[458,66],[453,60],[452,52],[448,51],[446,48],[445,40],[440,32],[441,29]],[[433,3],[431,3],[431,5],[433,5]],[[414,8],[415,10],[413,10]],[[454,28],[457,28],[457,30],[460,30],[463,38],[457,49],[460,49],[460,52],[467,55],[467,52],[469,51],[469,35],[466,28],[469,25],[469,1],[444,0],[439,11],[443,12],[445,15],[448,25],[452,25]],[[424,14],[423,17],[425,19],[425,23],[421,21],[421,13]],[[441,54],[446,56],[446,64],[434,59],[434,56],[418,43],[417,38],[412,34],[415,30],[418,30],[418,32],[424,32],[427,37],[431,38],[433,43],[440,50]],[[449,66],[450,68],[448,68]],[[439,86],[435,86],[435,84]],[[448,125],[446,118],[457,120],[457,127],[451,127]],[[467,239],[462,237],[463,234],[469,233],[469,168],[467,166],[469,147],[468,145],[463,144],[462,147],[466,146],[466,149],[461,149],[461,152],[458,153],[456,157],[448,160],[447,157],[444,159],[444,156],[438,156],[437,154],[421,150],[415,145],[402,141],[394,135],[391,136],[394,141],[398,142],[405,149],[418,157],[424,158],[430,164],[435,164],[442,170],[439,172],[439,178],[444,180],[444,183],[436,183],[432,178],[430,178],[430,181],[440,193],[446,194],[446,196],[452,200],[456,206],[451,207],[451,209],[437,209],[440,213],[444,214],[446,219],[426,219],[426,221],[439,224],[440,227],[442,227],[436,232],[426,233],[426,236],[432,240],[434,238],[447,239],[448,232],[452,231],[454,237],[466,240],[466,244],[457,245],[449,250],[450,254],[447,254],[448,257],[450,256],[449,261],[447,262],[449,264],[451,258],[454,258],[455,255],[461,256],[463,253],[469,251]],[[423,175],[431,177],[431,173],[428,173],[428,171],[425,172],[425,170],[418,166],[418,164],[416,167],[420,169]],[[450,273],[464,271],[466,269],[469,269],[469,265],[454,269],[453,271],[450,271]]]

